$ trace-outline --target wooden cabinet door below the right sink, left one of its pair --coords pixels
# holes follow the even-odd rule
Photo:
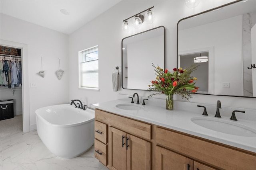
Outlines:
[[[193,170],[194,161],[156,146],[156,170]]]

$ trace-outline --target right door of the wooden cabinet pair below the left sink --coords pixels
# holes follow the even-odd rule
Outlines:
[[[151,144],[148,141],[127,134],[127,170],[151,169]]]

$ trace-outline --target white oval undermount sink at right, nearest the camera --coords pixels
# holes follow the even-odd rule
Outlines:
[[[236,122],[231,122],[228,120],[222,120],[219,118],[211,117],[193,117],[191,118],[191,121],[207,129],[211,129],[214,131],[230,135],[256,137],[256,129],[252,129],[251,127],[241,125]]]

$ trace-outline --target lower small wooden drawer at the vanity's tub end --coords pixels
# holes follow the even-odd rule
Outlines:
[[[107,145],[94,139],[94,156],[105,166],[107,165]]]

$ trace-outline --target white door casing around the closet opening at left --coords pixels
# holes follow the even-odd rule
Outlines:
[[[16,49],[20,49],[21,53],[21,67],[22,67],[22,88],[20,89],[21,92],[21,105],[22,105],[22,129],[23,132],[30,131],[30,111],[29,111],[29,81],[28,81],[28,45],[22,43],[16,43],[12,41],[6,41],[0,39],[0,46],[12,47]],[[18,89],[16,89],[18,91]],[[10,95],[17,94],[18,92],[14,90],[10,90],[8,93]],[[2,93],[2,92],[1,92]],[[2,96],[2,95],[1,95]],[[20,113],[16,113],[20,114]]]

